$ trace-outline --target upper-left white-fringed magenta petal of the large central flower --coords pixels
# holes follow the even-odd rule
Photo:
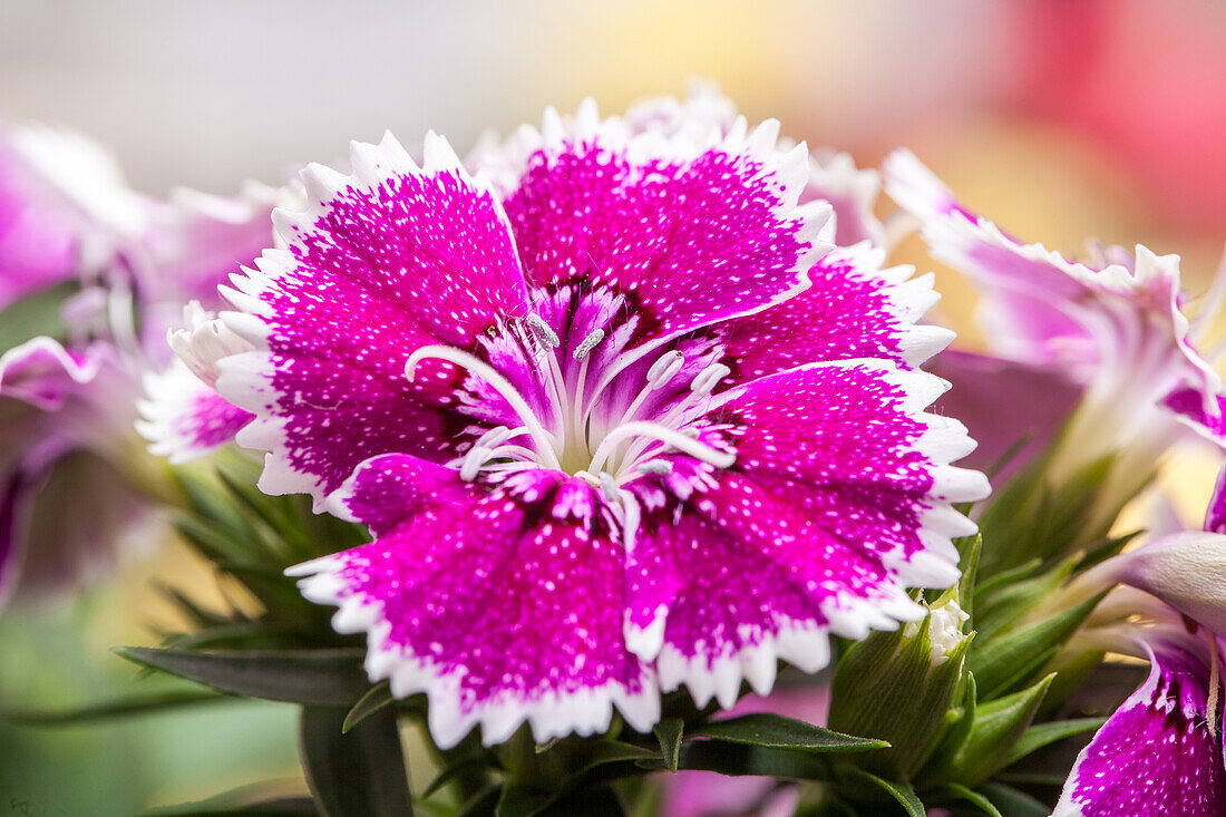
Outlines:
[[[378,454],[454,456],[468,422],[447,411],[463,373],[409,356],[471,348],[527,293],[505,216],[439,137],[417,169],[392,139],[354,146],[356,177],[313,166],[308,213],[277,211],[289,253],[235,278],[230,328],[266,352],[226,358],[217,388],[256,415],[239,443],[272,450],[261,487],[316,497]]]

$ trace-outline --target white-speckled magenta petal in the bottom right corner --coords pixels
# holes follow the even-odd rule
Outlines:
[[[1206,716],[1209,667],[1159,654],[1149,678],[1078,756],[1053,817],[1226,813],[1221,732]]]

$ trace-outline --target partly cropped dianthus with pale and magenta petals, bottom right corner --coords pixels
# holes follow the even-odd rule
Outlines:
[[[1089,645],[1137,655],[1149,677],[1078,756],[1054,817],[1226,813],[1226,471],[1204,531],[1167,534],[1078,578],[1069,599],[1119,583]]]

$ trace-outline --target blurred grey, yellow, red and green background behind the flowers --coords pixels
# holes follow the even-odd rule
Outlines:
[[[750,120],[776,117],[859,167],[905,145],[969,207],[1048,247],[1075,254],[1094,236],[1179,253],[1192,293],[1226,238],[1224,71],[1226,6],[1200,0],[0,5],[0,119],[89,134],[157,199],[277,183],[385,129],[406,142],[434,129],[462,150],[487,128],[538,121],[547,104],[573,110],[593,96],[613,113],[702,76]],[[195,202],[200,217],[224,215]],[[250,237],[243,223],[234,240]],[[896,255],[933,266],[916,238]],[[982,346],[972,291],[937,271],[938,309],[966,348]],[[1189,520],[1215,469],[1209,455],[1181,466],[1175,494]],[[88,525],[89,504],[60,507]],[[151,578],[212,584],[170,546],[71,604],[6,612],[0,705],[118,694],[130,672],[107,648],[153,643],[175,623]],[[291,708],[210,713],[221,714],[0,726],[0,795],[105,817],[278,777],[302,790]],[[172,751],[180,730],[199,740]],[[195,788],[206,775],[210,788]]]

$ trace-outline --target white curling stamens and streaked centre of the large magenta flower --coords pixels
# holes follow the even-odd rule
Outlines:
[[[460,411],[481,421],[451,465],[465,480],[499,480],[525,469],[555,469],[606,491],[644,474],[672,470],[685,454],[715,467],[734,455],[704,420],[729,369],[712,337],[628,348],[638,329],[625,298],[607,288],[538,292],[533,312],[501,321],[481,339],[484,355],[450,346],[417,350],[467,372]],[[660,351],[666,347],[664,351]]]

